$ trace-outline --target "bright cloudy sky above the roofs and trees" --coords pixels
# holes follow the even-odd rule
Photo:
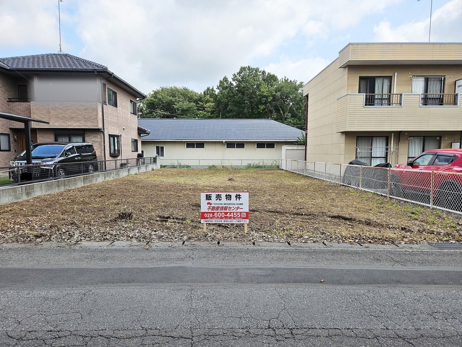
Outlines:
[[[0,57],[65,53],[148,94],[252,66],[308,82],[351,42],[462,42],[462,0],[0,0]],[[431,17],[431,30],[430,28]]]

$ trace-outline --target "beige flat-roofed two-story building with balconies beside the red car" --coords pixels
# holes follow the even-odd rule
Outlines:
[[[303,87],[306,160],[376,165],[459,148],[462,43],[351,43]]]

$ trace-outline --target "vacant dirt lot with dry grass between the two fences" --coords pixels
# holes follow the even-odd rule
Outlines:
[[[200,223],[201,191],[248,191],[249,224]],[[462,242],[462,217],[281,170],[160,169],[0,205],[0,242]]]

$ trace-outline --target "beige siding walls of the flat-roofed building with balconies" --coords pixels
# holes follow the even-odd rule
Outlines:
[[[356,157],[357,136],[387,136],[394,164],[406,162],[410,136],[440,136],[441,148],[450,148],[460,140],[460,96],[457,106],[421,106],[420,95],[411,94],[412,77],[443,76],[444,93],[454,94],[461,57],[460,43],[349,44],[303,88],[306,160],[347,163]],[[359,77],[368,76],[390,76],[391,93],[402,94],[402,105],[364,106]]]

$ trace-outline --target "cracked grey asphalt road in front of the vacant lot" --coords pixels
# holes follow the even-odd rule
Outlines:
[[[462,250],[0,245],[0,345],[460,346]]]

